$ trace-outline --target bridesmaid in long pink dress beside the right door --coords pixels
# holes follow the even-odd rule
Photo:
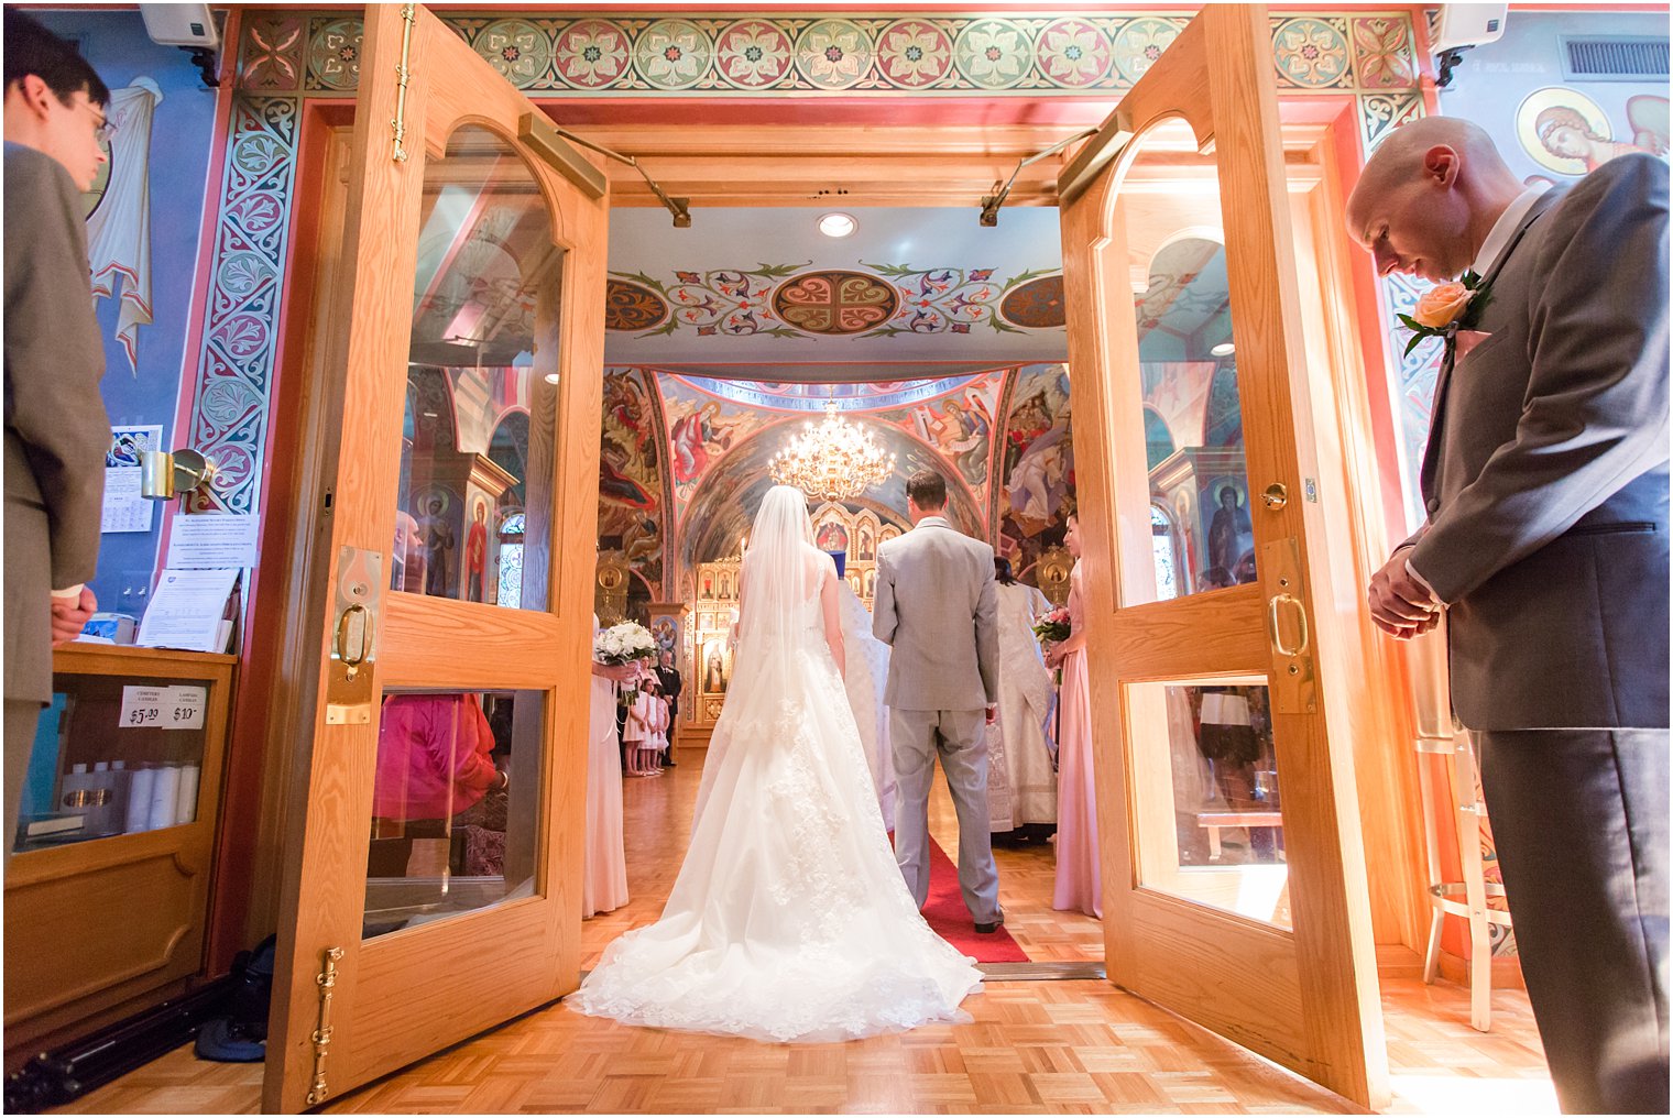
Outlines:
[[[1069,572],[1069,639],[1046,653],[1046,664],[1062,668],[1057,695],[1057,887],[1054,909],[1104,915],[1097,875],[1097,800],[1092,788],[1092,696],[1086,674],[1086,599],[1081,589],[1081,524],[1069,514],[1064,546],[1074,556]]]

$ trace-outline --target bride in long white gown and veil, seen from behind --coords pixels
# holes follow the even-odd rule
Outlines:
[[[845,1041],[967,1021],[975,961],[918,915],[836,663],[836,569],[775,485],[743,561],[733,683],[663,917],[565,1004],[627,1024]]]

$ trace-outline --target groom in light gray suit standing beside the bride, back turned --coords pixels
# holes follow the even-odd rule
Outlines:
[[[999,701],[994,549],[954,529],[947,482],[907,480],[913,529],[877,551],[872,633],[893,646],[883,703],[895,753],[895,860],[918,907],[929,899],[935,756],[959,813],[959,887],[977,932],[1005,922],[987,817],[987,735]]]

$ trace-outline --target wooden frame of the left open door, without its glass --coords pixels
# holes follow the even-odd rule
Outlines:
[[[338,971],[355,976],[355,981],[338,982],[330,991],[335,1036],[328,1043],[335,1044],[330,1059],[336,1061],[330,1064],[330,1073],[336,1085],[361,1083],[510,1016],[489,996],[470,1004],[448,999],[443,1003],[445,1014],[428,1018],[422,1013],[403,1016],[395,1013],[395,1006],[356,997],[363,987],[375,987],[378,981],[393,981],[422,969],[417,967],[417,957],[430,951],[452,952],[455,982],[467,982],[485,992],[509,992],[520,1009],[559,997],[579,981],[586,750],[576,743],[586,740],[587,713],[586,703],[564,701],[562,696],[584,695],[587,688],[591,554],[577,554],[581,549],[570,542],[592,536],[589,522],[597,514],[596,502],[577,500],[572,494],[597,477],[596,438],[564,438],[550,464],[552,532],[545,579],[552,609],[505,618],[504,611],[475,603],[407,601],[407,596],[390,592],[385,596],[378,636],[381,644],[383,633],[402,623],[408,631],[423,631],[433,641],[445,641],[450,633],[463,629],[485,636],[497,631],[515,631],[519,636],[539,631],[539,639],[534,644],[522,643],[494,663],[458,664],[425,663],[397,643],[380,648],[378,659],[370,666],[373,695],[381,691],[385,680],[400,680],[408,686],[509,686],[547,693],[544,738],[552,748],[542,772],[547,810],[542,817],[544,842],[537,870],[545,887],[535,890],[532,899],[462,914],[423,929],[422,934],[390,936],[373,941],[370,947],[361,942],[358,921],[355,927],[346,926],[345,914],[358,914],[363,902],[363,874],[348,870],[355,864],[365,865],[366,842],[365,828],[351,830],[346,820],[370,803],[371,765],[365,758],[376,751],[376,726],[328,728],[323,721],[321,696],[333,663],[323,656],[320,634],[326,633],[330,603],[335,601],[338,549],[356,547],[378,554],[390,549],[398,464],[383,452],[398,442],[402,422],[398,395],[385,392],[388,385],[350,378],[348,370],[407,365],[408,315],[390,315],[388,310],[405,306],[410,300],[410,278],[417,263],[417,197],[425,164],[442,157],[448,137],[467,124],[489,127],[514,142],[515,124],[529,110],[525,99],[497,77],[468,82],[468,90],[457,89],[465,82],[423,80],[432,74],[492,75],[492,70],[430,12],[418,8],[413,18],[415,25],[408,27],[397,5],[373,5],[366,13],[366,77],[356,94],[355,119],[378,124],[370,124],[361,137],[365,142],[351,156],[348,221],[341,243],[345,259],[380,259],[388,261],[388,268],[360,266],[341,273],[338,298],[331,301],[336,310],[323,331],[321,348],[326,358],[316,370],[323,382],[320,387],[326,390],[316,397],[323,395],[326,403],[316,408],[301,494],[311,504],[311,495],[325,494],[335,485],[331,514],[321,515],[323,522],[313,534],[308,554],[311,569],[330,572],[330,577],[316,576],[306,584],[306,614],[303,624],[291,631],[291,644],[313,644],[315,669],[286,681],[288,686],[279,688],[276,700],[313,711],[315,718],[310,741],[298,745],[293,768],[296,783],[289,802],[340,807],[330,812],[298,812],[289,820],[286,845],[293,855],[284,865],[276,992],[263,1088],[263,1105],[268,1110],[293,1111],[308,1105],[304,1096],[318,1048],[313,1031],[320,1023],[323,1001],[315,972],[326,947],[340,947]],[[410,44],[403,42],[407,35]],[[393,62],[398,59],[407,59],[407,69],[422,75],[405,92],[395,80]],[[400,100],[405,100],[402,107]],[[413,154],[422,152],[422,159],[391,159],[390,134],[381,122],[402,119],[403,114],[407,146]],[[596,171],[591,161],[586,166]],[[562,435],[582,423],[582,417],[596,415],[601,407],[604,253],[577,249],[597,249],[604,244],[607,206],[597,194],[589,201],[564,181],[582,177],[581,171],[560,176],[537,161],[529,161],[529,169],[552,219],[552,239],[565,249],[559,318],[549,326],[537,325],[539,330],[547,330],[540,341],[555,343],[554,368],[560,372],[560,380],[549,423],[554,435]],[[564,199],[562,204],[559,199]],[[371,251],[373,246],[378,246],[376,253]],[[597,326],[577,330],[577,321]],[[393,380],[388,383],[393,385]],[[343,403],[335,403],[338,400]],[[326,437],[328,432],[345,428],[353,432],[358,445],[371,452],[356,452],[355,445],[345,445],[350,440]],[[577,572],[581,564],[587,567],[586,576]],[[432,644],[438,646],[442,644]],[[338,756],[361,760],[343,765]],[[306,910],[299,905],[304,880],[313,900]],[[296,914],[294,921],[286,919],[288,912]],[[535,939],[550,944],[549,952],[529,952],[529,932],[535,927],[540,929]],[[483,942],[489,929],[505,932],[510,944],[525,944],[522,952],[515,947],[509,947],[509,956],[465,949],[467,944]],[[447,1028],[433,1024],[443,1018]]]

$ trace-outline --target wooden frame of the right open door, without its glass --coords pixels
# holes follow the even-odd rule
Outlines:
[[[1069,318],[1092,325],[1071,330],[1069,336],[1069,365],[1081,373],[1071,377],[1071,397],[1072,413],[1081,418],[1076,484],[1092,619],[1089,658],[1118,666],[1091,680],[1092,725],[1099,728],[1094,751],[1108,762],[1096,765],[1106,969],[1118,984],[1176,1011],[1190,1006],[1190,1016],[1216,1033],[1338,1095],[1377,1105],[1389,1091],[1382,1008],[1347,740],[1352,723],[1345,688],[1335,680],[1350,659],[1337,603],[1357,601],[1358,592],[1357,587],[1348,597],[1338,592],[1345,587],[1338,586],[1340,564],[1328,559],[1320,504],[1345,505],[1347,494],[1303,499],[1303,479],[1320,477],[1315,444],[1335,417],[1315,415],[1302,358],[1283,156],[1263,139],[1278,134],[1266,27],[1266,12],[1258,5],[1205,7],[1059,179],[1059,196],[1066,199]],[[1121,587],[1139,587],[1154,577],[1148,521],[1131,526],[1134,532],[1144,529],[1143,547],[1123,547],[1118,532],[1123,514],[1148,509],[1149,487],[1141,415],[1123,407],[1136,398],[1136,335],[1111,326],[1131,321],[1131,295],[1124,283],[1106,281],[1101,259],[1106,251],[1126,259],[1126,233],[1114,221],[1114,206],[1136,156],[1133,139],[1168,119],[1186,121],[1205,154],[1213,144],[1240,365],[1278,370],[1245,377],[1240,387],[1245,430],[1268,427],[1266,438],[1246,445],[1250,492],[1282,482],[1290,494],[1283,507],[1256,512],[1256,547],[1263,556],[1287,539],[1300,547],[1303,576],[1288,592],[1298,592],[1312,623],[1313,663],[1322,681],[1317,713],[1287,715],[1280,703],[1273,705],[1287,788],[1285,830],[1292,837],[1292,932],[1149,890],[1133,875],[1139,850],[1126,805],[1133,795],[1128,770],[1138,763],[1138,753],[1128,725],[1133,716],[1124,696],[1128,680],[1255,671],[1276,683],[1290,663],[1266,638],[1265,608],[1280,589],[1265,561],[1258,584],[1174,603],[1148,604],[1141,597],[1123,608]],[[1241,142],[1226,142],[1228,136]],[[1126,268],[1121,273],[1124,281]],[[1118,385],[1126,392],[1118,392]],[[1266,417],[1275,422],[1268,425]],[[1087,435],[1084,445],[1082,435]],[[1191,618],[1210,611],[1235,618],[1236,636],[1205,653],[1191,644],[1196,628]],[[1123,669],[1123,664],[1143,666]],[[1208,934],[1218,942],[1236,944],[1235,956],[1205,959],[1200,967],[1169,966],[1174,946],[1200,941],[1201,929],[1211,929]],[[1260,966],[1246,966],[1251,961]],[[1270,1011],[1292,997],[1287,1011]]]

